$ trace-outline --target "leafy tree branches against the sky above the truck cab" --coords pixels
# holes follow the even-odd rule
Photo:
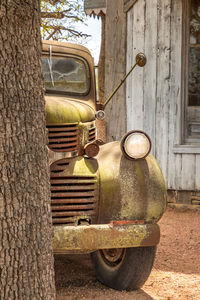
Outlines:
[[[88,37],[77,29],[86,20],[83,0],[41,0],[41,13],[43,39],[80,41]]]

